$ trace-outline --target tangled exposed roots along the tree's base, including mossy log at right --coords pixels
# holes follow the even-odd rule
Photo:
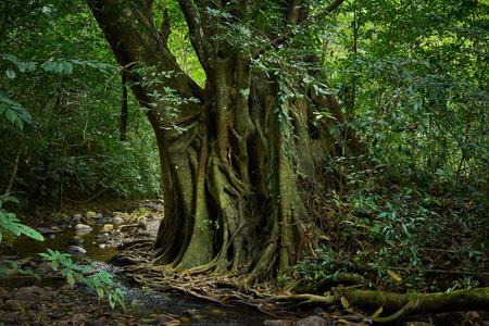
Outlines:
[[[141,231],[141,228],[143,228],[141,225],[134,225],[121,233],[121,238],[125,240],[120,244],[120,248],[124,251],[115,259],[115,263],[125,265],[126,274],[136,283],[160,291],[176,290],[218,305],[250,306],[272,317],[277,317],[276,315],[281,311],[291,308],[339,305],[341,297],[347,298],[356,306],[372,310],[378,310],[383,306],[384,311],[396,313],[387,317],[354,315],[323,317],[327,323],[337,324],[339,319],[351,323],[392,323],[414,312],[441,312],[453,309],[474,310],[489,305],[488,288],[473,289],[471,292],[452,291],[450,294],[446,292],[397,294],[365,291],[359,289],[364,287],[365,279],[359,274],[346,272],[327,276],[315,284],[304,285],[300,280],[296,280],[288,284],[287,288],[277,291],[277,288],[271,283],[255,283],[260,274],[265,273],[271,261],[276,259],[272,254],[272,252],[275,252],[276,241],[267,243],[271,254],[269,256],[262,255],[258,263],[258,266],[262,268],[255,267],[250,274],[216,273],[216,269],[210,267],[218,264],[218,258],[208,265],[200,266],[200,268],[176,273],[168,265],[153,264],[153,240],[148,238],[147,234]],[[238,233],[239,228],[229,237],[229,242]],[[208,272],[212,269],[214,269],[214,273]],[[344,288],[342,284],[353,286]],[[326,290],[326,288],[334,286],[338,287],[335,291],[331,291],[331,294],[311,294],[318,289]]]

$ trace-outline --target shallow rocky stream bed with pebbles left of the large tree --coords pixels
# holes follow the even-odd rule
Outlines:
[[[262,325],[265,316],[248,308],[220,308],[188,298],[177,292],[160,292],[130,283],[124,268],[110,263],[118,253],[117,246],[130,240],[125,230],[139,239],[148,240],[158,231],[162,206],[158,202],[142,202],[126,212],[74,213],[49,226],[39,227],[45,241],[21,237],[12,248],[0,248],[0,265],[8,260],[17,262],[21,269],[32,269],[42,276],[39,283],[32,275],[10,271],[10,278],[0,278],[0,325]],[[129,214],[128,212],[133,213]],[[135,216],[139,217],[137,221]],[[80,231],[80,225],[91,229]],[[78,239],[79,246],[73,246]],[[78,247],[85,253],[73,253],[72,260],[80,266],[91,266],[93,272],[105,271],[113,275],[114,286],[127,293],[127,310],[110,308],[106,300],[83,284],[70,286],[60,271],[37,253],[47,249],[61,253]],[[76,252],[76,251],[75,251]],[[60,268],[59,268],[60,269]]]

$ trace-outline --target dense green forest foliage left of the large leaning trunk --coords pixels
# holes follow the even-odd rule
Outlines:
[[[129,97],[118,140],[120,72],[84,3],[3,1],[0,15],[0,190],[58,208],[158,196],[149,125]]]

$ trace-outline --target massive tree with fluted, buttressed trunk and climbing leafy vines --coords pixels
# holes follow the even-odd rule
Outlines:
[[[178,0],[204,86],[178,64],[153,0],[88,2],[156,136],[154,263],[244,272],[251,285],[318,248],[305,201],[333,156],[363,152],[309,34],[342,1]]]

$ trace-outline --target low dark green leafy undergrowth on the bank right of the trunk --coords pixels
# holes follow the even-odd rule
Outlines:
[[[447,196],[440,188],[389,183],[375,171],[350,173],[346,185],[348,195],[311,198],[308,209],[326,231],[323,248],[280,279],[296,276],[311,285],[354,272],[377,289],[400,292],[489,285],[484,191],[467,196],[451,188]]]

